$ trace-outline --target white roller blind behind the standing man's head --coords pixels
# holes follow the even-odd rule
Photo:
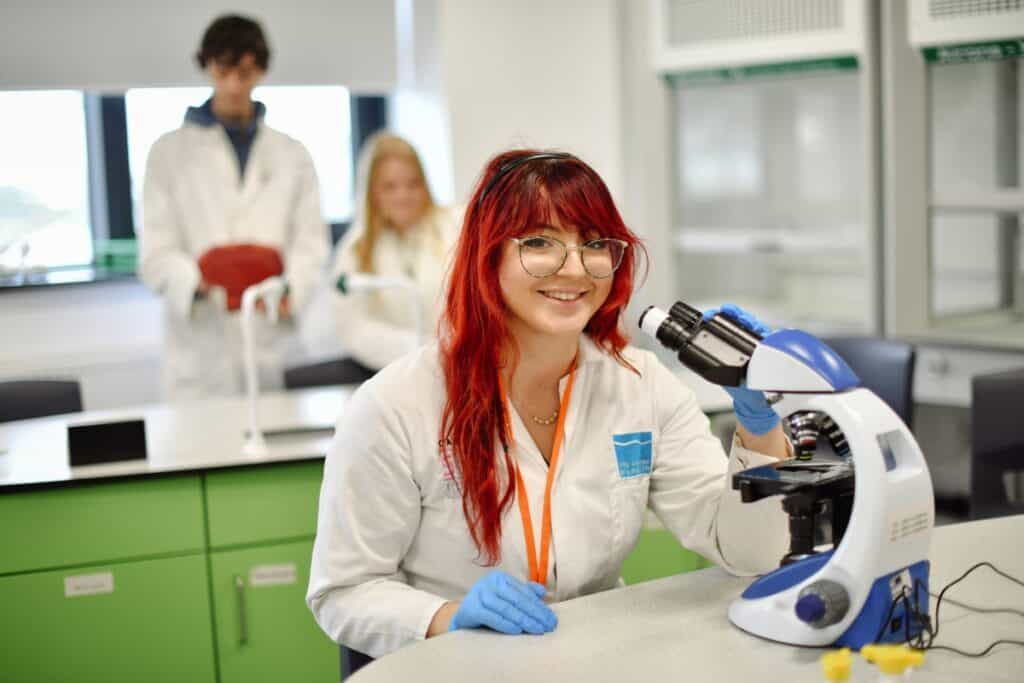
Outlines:
[[[268,85],[382,92],[395,83],[394,3],[384,0],[4,0],[0,90],[203,83],[194,55],[224,13],[263,25]]]

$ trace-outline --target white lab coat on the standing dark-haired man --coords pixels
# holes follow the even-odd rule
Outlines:
[[[222,291],[195,300],[198,260],[212,247],[240,243],[278,249],[293,315],[301,314],[330,251],[309,154],[260,123],[240,183],[223,127],[186,122],[150,153],[142,228],[139,275],[164,298],[166,397],[240,392],[240,315],[225,310]],[[271,326],[265,316],[257,318],[261,386],[280,386],[294,323]]]

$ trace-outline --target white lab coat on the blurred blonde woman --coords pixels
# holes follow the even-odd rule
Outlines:
[[[337,296],[338,338],[349,355],[379,370],[416,348],[414,305],[423,311],[425,339],[436,336],[444,278],[461,227],[461,209],[434,207],[404,237],[393,229],[381,230],[374,245],[373,273],[407,278],[419,296],[414,301],[407,292],[394,289]],[[364,229],[356,223],[338,245],[333,272],[358,271],[355,242]]]

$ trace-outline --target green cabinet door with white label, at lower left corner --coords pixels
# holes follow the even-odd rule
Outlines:
[[[203,555],[4,577],[0,605],[0,681],[216,681]]]

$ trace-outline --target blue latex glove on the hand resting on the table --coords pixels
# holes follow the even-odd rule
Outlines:
[[[469,589],[452,617],[449,631],[486,627],[518,635],[554,631],[558,617],[544,603],[545,588],[523,583],[501,569],[488,572]]]

